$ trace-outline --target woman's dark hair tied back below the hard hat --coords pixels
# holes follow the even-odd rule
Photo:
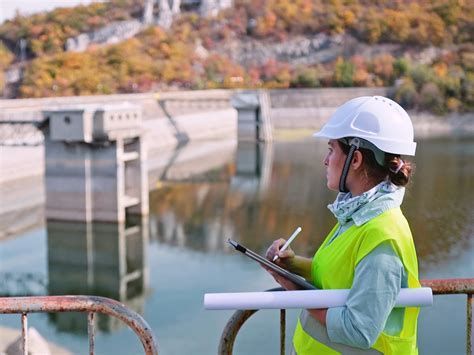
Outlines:
[[[349,146],[338,141],[344,154],[349,153]],[[388,179],[397,186],[406,186],[410,182],[410,178],[414,169],[413,163],[402,159],[398,154],[385,153],[384,165],[381,166],[375,159],[375,154],[370,149],[358,149],[364,157],[363,164],[367,177],[379,183]],[[401,165],[397,172],[397,169]]]

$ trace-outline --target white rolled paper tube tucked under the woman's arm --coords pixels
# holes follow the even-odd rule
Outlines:
[[[346,289],[206,293],[204,295],[204,308],[223,310],[340,307],[346,304],[349,291]],[[423,307],[432,304],[433,292],[431,288],[403,288],[398,294],[395,307]]]

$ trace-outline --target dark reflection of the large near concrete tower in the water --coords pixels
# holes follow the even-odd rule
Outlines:
[[[147,231],[146,219],[127,224],[47,221],[48,293],[110,297],[143,313]],[[50,319],[60,330],[87,331],[84,314],[56,313]],[[123,326],[101,314],[97,324],[103,331]]]

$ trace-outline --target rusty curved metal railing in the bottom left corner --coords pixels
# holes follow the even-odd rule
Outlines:
[[[28,354],[28,313],[88,313],[89,354],[94,354],[94,316],[102,313],[120,319],[140,338],[145,354],[158,354],[157,343],[147,322],[123,304],[99,296],[1,297],[0,314],[21,314],[23,354]]]

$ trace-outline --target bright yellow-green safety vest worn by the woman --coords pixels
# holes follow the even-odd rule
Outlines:
[[[374,217],[362,226],[351,226],[327,245],[338,227],[339,224],[336,224],[316,252],[312,261],[311,277],[313,283],[318,288],[351,288],[355,268],[359,261],[384,241],[391,242],[395,252],[400,257],[408,274],[408,287],[420,287],[418,281],[418,261],[413,238],[408,222],[400,208],[390,209]],[[306,311],[303,311],[302,315],[304,315],[305,312]],[[371,351],[397,355],[418,354],[416,346],[418,313],[418,307],[406,307],[400,335],[392,336],[382,332]],[[337,346],[331,347],[331,344],[328,346],[327,342],[325,345],[318,341],[318,332],[312,332],[308,330],[311,329],[311,327],[302,324],[302,320],[304,322],[308,318],[311,317],[306,316],[305,319],[300,317],[295,329],[293,346],[298,355],[329,355],[344,352],[335,350],[338,348]],[[315,320],[311,319],[311,321]],[[332,344],[337,345],[336,343]],[[355,348],[353,349],[355,350]]]

